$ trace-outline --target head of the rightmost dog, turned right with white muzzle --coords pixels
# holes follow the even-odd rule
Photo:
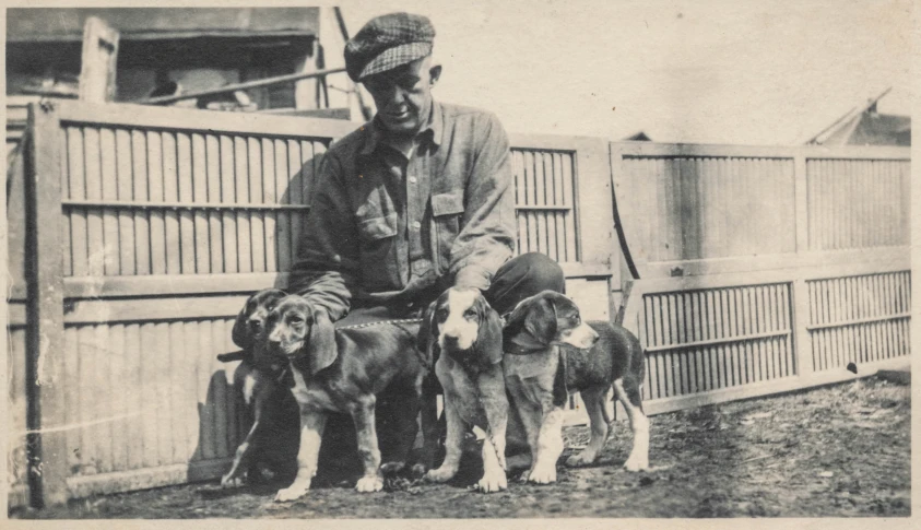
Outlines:
[[[508,317],[506,340],[547,346],[569,344],[591,348],[598,333],[582,321],[579,307],[570,298],[554,291],[543,291],[521,301]]]

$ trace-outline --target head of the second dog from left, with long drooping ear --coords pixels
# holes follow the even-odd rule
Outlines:
[[[269,348],[292,362],[306,357],[316,375],[335,362],[335,330],[327,311],[298,295],[282,298],[269,315]]]

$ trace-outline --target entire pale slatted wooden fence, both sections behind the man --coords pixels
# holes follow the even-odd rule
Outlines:
[[[227,468],[245,425],[215,354],[246,295],[286,283],[319,157],[351,129],[31,107],[8,174],[12,505]],[[586,317],[619,308],[651,413],[905,362],[908,150],[511,141],[518,250],[562,262]]]

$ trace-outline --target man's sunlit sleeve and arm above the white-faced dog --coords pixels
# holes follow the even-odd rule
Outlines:
[[[511,153],[498,118],[489,115],[467,182],[460,234],[451,247],[454,285],[486,290],[515,250],[515,192]]]

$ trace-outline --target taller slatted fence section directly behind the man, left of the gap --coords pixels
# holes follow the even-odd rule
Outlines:
[[[235,350],[246,295],[286,283],[319,158],[354,126],[70,102],[31,113],[9,201],[11,504],[219,476],[245,425],[236,364],[215,355]],[[520,251],[560,261],[587,313],[609,318],[606,142],[511,140]]]

